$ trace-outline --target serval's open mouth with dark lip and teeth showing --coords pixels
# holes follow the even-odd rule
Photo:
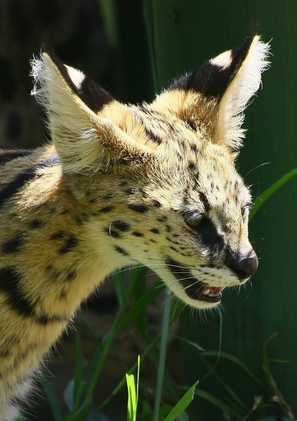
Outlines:
[[[223,288],[209,286],[207,283],[198,281],[179,262],[170,259],[166,263],[170,268],[170,272],[181,283],[184,292],[189,298],[212,303],[221,301]]]

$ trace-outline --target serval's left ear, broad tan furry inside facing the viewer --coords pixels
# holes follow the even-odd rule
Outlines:
[[[83,72],[64,65],[53,54],[42,53],[32,60],[32,75],[32,94],[46,109],[65,172],[106,171],[115,163],[148,159],[149,147],[113,123],[128,113],[127,107]]]

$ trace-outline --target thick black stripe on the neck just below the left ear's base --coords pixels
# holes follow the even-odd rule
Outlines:
[[[8,183],[8,185],[0,190],[0,208],[8,199],[11,199],[15,193],[24,187],[26,182],[41,177],[41,174],[39,173],[40,168],[52,167],[58,165],[59,163],[60,161],[57,154],[54,154],[16,175],[15,178]]]

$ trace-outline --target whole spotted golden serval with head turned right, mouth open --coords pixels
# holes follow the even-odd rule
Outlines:
[[[198,309],[254,273],[235,158],[267,54],[251,36],[140,106],[52,54],[33,60],[53,141],[0,153],[2,421],[15,420],[43,355],[116,269],[146,265]]]

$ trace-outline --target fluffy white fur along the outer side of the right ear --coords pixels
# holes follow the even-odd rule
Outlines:
[[[217,142],[226,143],[233,149],[239,149],[242,145],[244,109],[261,85],[261,73],[269,66],[267,60],[269,50],[269,44],[260,41],[258,35],[254,36],[246,58],[219,102],[219,117],[216,127]],[[212,59],[212,62],[228,67],[228,60],[225,59],[226,57],[219,55]]]

